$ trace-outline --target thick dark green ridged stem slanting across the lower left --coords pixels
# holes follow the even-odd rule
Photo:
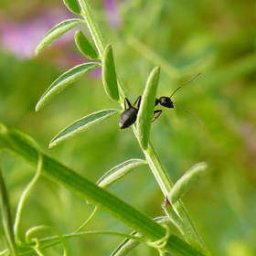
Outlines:
[[[8,133],[2,133],[0,131],[0,145],[4,146],[8,151],[22,156],[31,165],[37,165],[37,149],[27,144],[27,141],[20,134],[14,131]],[[41,174],[43,176],[66,187],[74,195],[88,200],[91,204],[105,210],[131,229],[141,233],[148,240],[156,241],[165,237],[166,229],[154,220],[123,202],[120,198],[115,197],[107,190],[96,186],[69,167],[61,165],[56,160],[48,157],[48,155],[42,154],[42,156],[43,169]],[[174,256],[204,255],[174,234],[171,234],[169,239],[166,240],[165,251],[170,252]]]

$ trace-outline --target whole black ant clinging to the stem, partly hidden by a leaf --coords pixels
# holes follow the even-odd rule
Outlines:
[[[199,76],[201,73],[197,74],[197,76]],[[197,76],[195,78],[193,78],[192,80],[196,79]],[[186,83],[180,85],[176,91],[178,91],[181,87],[183,87],[184,85],[186,85],[187,83],[189,83],[190,81],[192,80],[189,80],[187,81]],[[166,97],[166,96],[162,96],[160,97],[159,99],[155,99],[155,106],[160,104],[162,105],[163,107],[165,108],[168,108],[168,109],[173,109],[174,108],[174,103],[184,112],[187,112],[186,110],[184,110],[181,106],[179,106],[176,102],[172,101],[171,98],[172,96],[176,93],[176,91],[174,91],[172,93],[172,95],[170,97]],[[120,116],[120,120],[119,120],[119,127],[121,129],[125,129],[125,128],[128,128],[130,127],[133,123],[135,123],[136,119],[137,119],[137,114],[139,112],[139,108],[140,108],[140,104],[141,104],[141,100],[142,100],[142,96],[139,96],[137,98],[137,100],[133,103],[132,103],[127,99],[127,98],[124,98],[124,112],[121,114]],[[127,105],[128,105],[128,108],[127,108]],[[137,108],[135,107],[135,104],[137,103]],[[152,122],[155,122],[155,120],[160,116],[160,114],[162,113],[162,110],[156,110],[154,111],[154,115],[153,115],[153,121]],[[187,112],[189,114],[191,114],[192,116],[194,116],[197,121],[199,123],[202,124],[202,122],[197,118],[197,116],[195,116],[194,114],[190,113],[190,112]]]

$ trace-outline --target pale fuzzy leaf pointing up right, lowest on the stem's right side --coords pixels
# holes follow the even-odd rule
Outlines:
[[[206,163],[198,163],[197,165],[192,166],[184,176],[176,181],[176,184],[168,195],[171,204],[175,204],[176,201],[187,192],[197,179],[202,176],[207,166]]]

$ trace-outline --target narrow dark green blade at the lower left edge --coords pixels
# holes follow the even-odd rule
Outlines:
[[[7,189],[5,187],[5,180],[0,168],[0,212],[2,218],[2,226],[5,231],[5,239],[7,241],[11,255],[17,255],[16,241],[13,230],[13,223],[11,218],[11,210]]]

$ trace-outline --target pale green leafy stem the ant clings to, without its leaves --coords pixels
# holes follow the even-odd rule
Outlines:
[[[103,49],[105,48],[105,43],[101,36],[100,29],[97,26],[96,20],[94,19],[94,16],[92,14],[91,7],[87,0],[79,0],[79,3],[82,10],[81,15],[84,16],[84,18],[86,19],[87,26],[91,31],[91,37],[93,38],[96,48],[99,51],[99,55],[102,56]],[[173,73],[176,74],[176,71],[173,70]],[[117,80],[118,80],[118,85],[120,86],[119,90],[122,92],[123,95],[125,95],[122,82],[118,77],[117,77]],[[133,128],[133,133],[137,138],[135,128]],[[161,188],[164,196],[167,197],[169,191],[173,187],[173,182],[171,181],[170,177],[165,171],[165,167],[161,164],[159,156],[157,155],[153,145],[150,143],[148,149],[143,151],[148,161],[148,165],[150,166],[159,187]],[[201,249],[200,251],[204,251],[204,252],[207,251],[204,243],[202,242],[200,236],[197,233],[197,230],[195,229],[191,220],[189,219],[187,215],[187,210],[182,204],[181,200],[179,200],[179,202],[176,203],[174,210],[176,212],[176,215],[179,217],[179,219],[181,219],[182,223],[184,224],[182,226],[176,225],[176,227],[180,227],[180,229],[182,229],[182,227],[186,228],[187,231],[185,232],[185,230],[181,230],[181,233],[183,234],[187,233],[190,235],[189,238],[185,238],[185,239],[189,241],[194,240],[194,244],[197,245],[197,248]]]

